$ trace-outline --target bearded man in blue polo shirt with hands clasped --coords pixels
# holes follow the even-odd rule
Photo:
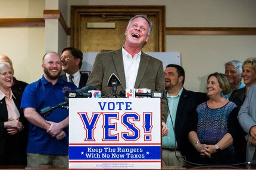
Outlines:
[[[29,120],[27,166],[68,168],[68,110],[56,108],[48,116],[40,110],[65,101],[65,91],[74,84],[60,79],[61,61],[55,52],[46,53],[42,61],[43,76],[24,90],[21,108]]]

